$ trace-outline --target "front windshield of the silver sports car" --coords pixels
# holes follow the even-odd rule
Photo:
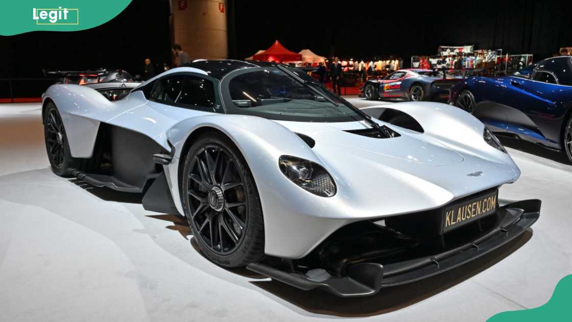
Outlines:
[[[238,72],[228,81],[230,101],[226,104],[227,111],[289,121],[340,122],[363,119],[349,103],[314,83],[302,70],[288,70],[303,81],[273,66]]]

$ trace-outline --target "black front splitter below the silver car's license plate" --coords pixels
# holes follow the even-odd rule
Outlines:
[[[403,285],[446,272],[507,244],[537,221],[540,208],[541,201],[537,199],[509,203],[499,208],[495,225],[478,238],[419,258],[384,264],[383,260],[375,260],[375,257],[384,254],[386,258],[387,255],[395,258],[400,249],[390,247],[376,251],[370,248],[362,253],[362,260],[347,258],[341,264],[336,262],[333,267],[340,269],[333,269],[335,272],[332,269],[330,272],[324,269],[299,272],[293,265],[287,265],[284,269],[262,263],[252,263],[247,268],[303,290],[324,289],[341,297],[373,295],[381,288]]]

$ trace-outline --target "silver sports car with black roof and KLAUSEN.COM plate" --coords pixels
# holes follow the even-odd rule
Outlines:
[[[184,215],[204,254],[297,288],[375,294],[511,241],[541,202],[483,123],[439,103],[360,110],[288,66],[194,61],[109,101],[43,95],[57,175]]]

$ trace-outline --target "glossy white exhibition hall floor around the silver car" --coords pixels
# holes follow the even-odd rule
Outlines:
[[[522,176],[499,198],[542,199],[532,230],[439,276],[340,299],[221,268],[193,247],[185,219],[55,176],[39,103],[0,104],[0,321],[483,321],[538,307],[572,273],[572,166],[503,142]]]

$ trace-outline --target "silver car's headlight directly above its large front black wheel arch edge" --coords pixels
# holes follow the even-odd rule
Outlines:
[[[319,164],[283,155],[278,160],[280,171],[293,183],[320,197],[332,197],[336,194],[336,184]]]

